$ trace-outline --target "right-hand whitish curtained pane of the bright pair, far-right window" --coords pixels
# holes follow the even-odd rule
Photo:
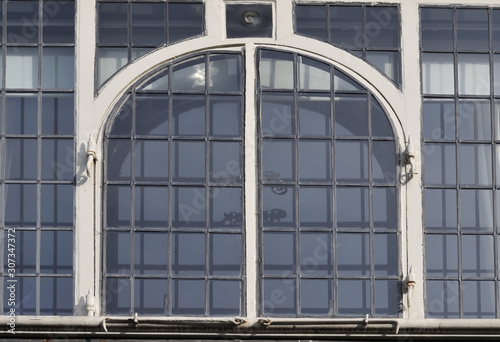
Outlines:
[[[490,61],[487,54],[458,54],[458,93],[490,94]]]

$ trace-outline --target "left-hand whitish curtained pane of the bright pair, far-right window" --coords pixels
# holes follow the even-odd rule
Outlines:
[[[477,55],[474,56],[477,57]],[[472,66],[467,68],[471,70]],[[468,81],[473,80],[468,79]],[[452,53],[422,54],[422,87],[424,94],[454,94],[454,82]]]

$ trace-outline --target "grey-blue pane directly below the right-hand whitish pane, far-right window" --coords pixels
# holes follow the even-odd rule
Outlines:
[[[491,140],[491,108],[489,100],[459,100],[460,140]]]

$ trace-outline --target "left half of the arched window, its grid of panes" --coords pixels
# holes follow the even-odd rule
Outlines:
[[[169,65],[106,134],[104,311],[242,315],[242,56]]]

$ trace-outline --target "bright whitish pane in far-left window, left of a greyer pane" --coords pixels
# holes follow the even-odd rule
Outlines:
[[[38,48],[15,46],[6,50],[5,87],[37,89]]]

